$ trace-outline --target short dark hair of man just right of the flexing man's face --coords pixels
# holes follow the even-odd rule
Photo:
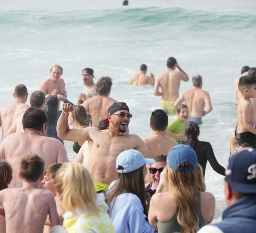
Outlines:
[[[161,109],[156,109],[151,113],[150,123],[152,130],[164,131],[166,125],[168,124],[168,115]]]

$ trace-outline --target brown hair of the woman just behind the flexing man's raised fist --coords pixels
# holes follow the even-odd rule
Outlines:
[[[73,117],[74,124],[76,121],[79,125],[92,126],[92,117],[86,113],[84,106],[73,105],[72,107],[74,110],[71,112],[71,116]]]

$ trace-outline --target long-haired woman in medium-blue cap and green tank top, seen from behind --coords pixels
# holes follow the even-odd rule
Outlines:
[[[159,233],[195,233],[212,222],[213,194],[204,192],[203,172],[192,147],[177,145],[168,152],[167,166],[152,196],[148,221]]]

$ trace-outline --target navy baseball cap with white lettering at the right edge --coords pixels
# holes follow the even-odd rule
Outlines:
[[[225,176],[230,187],[238,193],[256,193],[256,151],[242,150],[231,156]]]

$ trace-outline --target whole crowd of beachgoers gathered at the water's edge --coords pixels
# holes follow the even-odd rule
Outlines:
[[[151,84],[162,96],[150,116],[152,135],[143,139],[129,134],[128,105],[109,97],[112,79],[94,83],[91,68],[82,70],[76,105],[67,99],[59,65],[30,105],[26,86],[18,84],[15,102],[0,108],[0,233],[254,232],[256,68],[246,69],[234,81],[237,148],[226,170],[210,143],[199,141],[202,118],[212,111],[202,77],[194,75],[193,88],[179,95],[189,77],[174,57],[156,78],[144,64],[131,78],[131,85]],[[168,122],[168,115],[177,117]],[[73,162],[64,141],[74,142]],[[225,176],[228,208],[222,222],[205,226],[215,209],[213,194],[205,192],[208,161]]]

